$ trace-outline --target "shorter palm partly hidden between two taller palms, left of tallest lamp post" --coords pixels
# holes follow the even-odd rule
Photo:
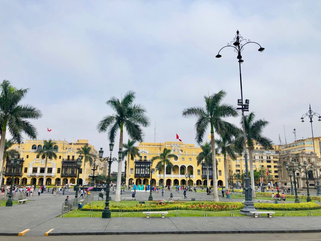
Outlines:
[[[229,155],[232,160],[236,159],[235,153],[237,153],[237,148],[235,147],[235,139],[230,139],[227,136],[221,136],[221,139],[216,139],[215,143],[217,147],[216,151],[224,156],[225,190],[227,190],[229,189],[229,181],[227,176],[226,155]]]

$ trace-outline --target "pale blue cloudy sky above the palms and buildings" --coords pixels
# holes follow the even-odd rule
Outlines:
[[[311,137],[310,123],[300,118],[309,104],[321,113],[320,1],[0,3],[0,77],[30,88],[22,103],[43,113],[31,121],[39,139],[88,139],[107,154],[107,133],[96,125],[113,113],[106,105],[111,96],[133,90],[152,123],[145,142],[154,142],[156,123],[156,142],[176,141],[178,133],[196,144],[195,119],[183,118],[182,110],[204,106],[204,95],[221,89],[224,103],[240,98],[237,54],[225,48],[215,58],[237,30],[265,48],[245,46],[241,65],[249,110],[270,122],[265,136],[278,144],[280,134],[285,143],[285,125],[288,143],[294,128],[298,139]],[[227,120],[239,125],[240,117]],[[321,136],[317,118],[313,125]]]

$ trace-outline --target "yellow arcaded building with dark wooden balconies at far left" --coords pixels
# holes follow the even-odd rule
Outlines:
[[[62,185],[66,183],[76,183],[77,181],[77,153],[81,147],[92,147],[93,154],[97,155],[97,150],[94,146],[88,143],[88,140],[79,139],[75,143],[67,142],[65,140],[53,140],[55,142],[54,148],[57,150],[56,159],[47,162],[47,170],[45,170],[45,157],[39,156],[37,150],[42,149],[43,140],[27,140],[20,145],[14,145],[11,149],[19,152],[20,164],[15,170],[14,183],[15,184],[32,184],[32,185]],[[23,158],[23,159],[22,159]],[[82,159],[82,167],[80,169],[79,184],[91,182],[90,175],[93,165],[85,163]],[[98,155],[95,161],[95,174],[102,174],[103,163],[99,161]],[[6,161],[3,170],[3,183],[9,184],[12,176],[12,168],[10,161]],[[45,180],[44,180],[45,178]]]

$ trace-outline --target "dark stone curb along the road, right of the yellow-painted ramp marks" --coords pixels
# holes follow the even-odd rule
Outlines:
[[[277,230],[273,233],[320,233],[321,229],[311,230]],[[78,232],[78,233],[48,233],[48,236],[63,235],[137,235],[137,234],[259,234],[271,233],[271,230],[231,230],[231,231],[158,231],[158,232]],[[1,234],[0,234],[1,235]]]

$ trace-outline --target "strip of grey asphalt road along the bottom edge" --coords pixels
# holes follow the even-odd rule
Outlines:
[[[68,241],[88,241],[92,236],[68,236]],[[65,239],[64,238],[64,239]],[[9,237],[2,236],[1,241],[58,241],[61,236],[41,237]],[[199,241],[199,240],[238,240],[238,241],[317,241],[321,240],[321,233],[296,233],[296,234],[158,234],[158,235],[103,235],[95,236],[95,240],[122,240],[122,241]]]

